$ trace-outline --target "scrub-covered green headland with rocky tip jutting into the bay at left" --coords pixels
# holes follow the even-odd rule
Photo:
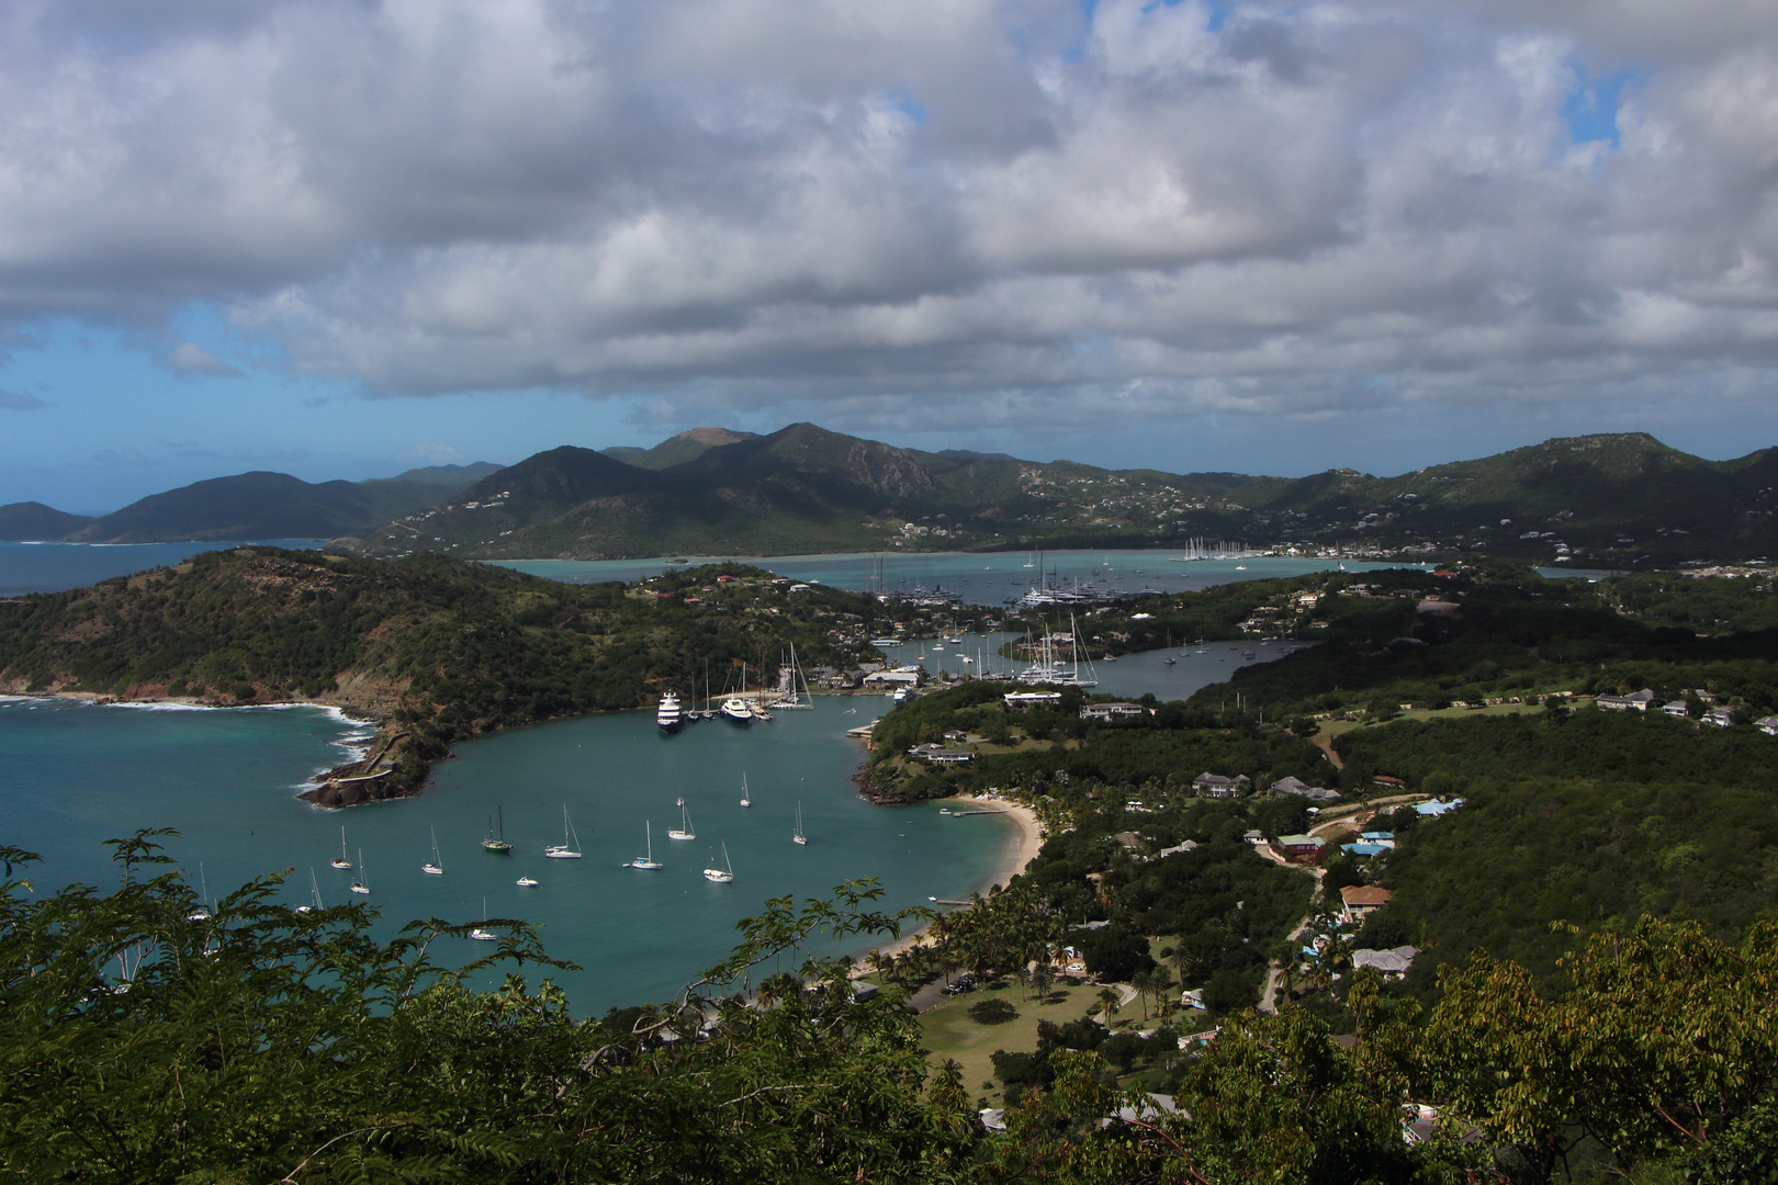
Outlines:
[[[382,721],[372,760],[336,771],[372,780],[315,792],[338,805],[412,792],[444,746],[480,732],[688,695],[706,664],[718,691],[741,663],[756,686],[772,679],[791,645],[809,664],[852,666],[889,613],[825,588],[791,597],[741,567],[644,590],[434,554],[240,547],[0,600],[0,689],[332,704]]]

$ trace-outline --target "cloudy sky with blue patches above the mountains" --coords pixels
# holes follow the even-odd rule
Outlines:
[[[0,503],[1778,444],[1771,0],[11,0]]]

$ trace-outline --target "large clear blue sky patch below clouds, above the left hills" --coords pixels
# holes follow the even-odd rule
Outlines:
[[[276,339],[242,334],[213,307],[181,309],[172,332],[76,320],[30,329],[0,359],[0,389],[28,396],[0,409],[0,505],[105,513],[249,469],[382,478],[558,444],[653,444],[672,430],[629,423],[647,400],[560,389],[366,398],[357,382],[292,371]],[[222,366],[171,368],[187,341]]]

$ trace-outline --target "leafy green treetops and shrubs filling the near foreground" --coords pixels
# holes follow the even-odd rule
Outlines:
[[[1572,954],[1574,988],[1476,954],[1421,1014],[1369,975],[1348,1050],[1301,1009],[1230,1018],[1175,1109],[1104,1057],[1049,1048],[1005,1132],[912,1014],[853,1000],[843,968],[752,968],[816,931],[893,934],[875,888],[773,899],[674,1002],[569,1016],[548,986],[475,993],[427,950],[462,927],[364,936],[356,906],[297,915],[274,885],[215,917],[151,833],[121,885],[37,899],[4,849],[0,1165],[27,1181],[1545,1181],[1588,1144],[1618,1171],[1764,1180],[1778,1135],[1778,929],[1741,945],[1654,920]],[[517,922],[494,959],[544,963]],[[1092,1025],[1088,1025],[1090,1029]],[[1117,1038],[1113,1038],[1117,1041]],[[1104,1043],[1106,1046],[1111,1041]],[[1422,1142],[1405,1125],[1433,1105]],[[1764,1165],[1764,1167],[1762,1167]],[[1479,1173],[1479,1178],[1476,1176]]]

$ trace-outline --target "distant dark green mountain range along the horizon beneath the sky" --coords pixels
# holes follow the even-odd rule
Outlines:
[[[0,538],[334,538],[379,556],[633,558],[1184,545],[1488,551],[1577,567],[1744,561],[1774,549],[1778,449],[1725,462],[1646,433],[1559,437],[1371,476],[1172,474],[926,453],[816,425],[693,428],[651,449],[562,446],[309,485],[254,473],[80,519],[0,506]]]

